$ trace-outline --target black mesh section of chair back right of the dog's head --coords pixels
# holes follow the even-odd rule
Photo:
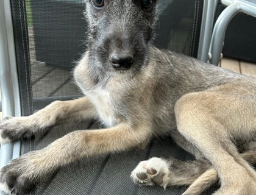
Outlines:
[[[204,1],[160,1],[155,45],[197,57]]]

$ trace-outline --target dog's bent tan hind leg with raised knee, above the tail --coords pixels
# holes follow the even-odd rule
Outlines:
[[[192,93],[183,96],[175,108],[177,128],[190,143],[202,152],[218,172],[221,188],[216,194],[254,194],[256,191],[254,169],[241,157],[232,143],[230,137],[234,132],[218,120],[218,114],[221,113],[222,117],[230,114],[230,110],[226,107],[233,109],[240,105],[237,105],[237,102],[236,105],[230,105],[233,104],[233,99],[230,97],[221,97],[222,102],[219,103],[219,96],[221,94],[214,92]],[[228,120],[234,119],[227,118]],[[240,134],[245,136],[244,133]]]

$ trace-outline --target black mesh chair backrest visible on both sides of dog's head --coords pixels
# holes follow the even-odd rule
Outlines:
[[[85,51],[84,0],[11,0],[22,115],[80,96],[70,71]],[[155,44],[197,56],[203,1],[163,0]]]

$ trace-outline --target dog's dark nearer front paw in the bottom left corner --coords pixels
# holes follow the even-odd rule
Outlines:
[[[0,170],[0,191],[20,195],[34,190],[35,185],[51,173],[41,159],[35,151],[11,160]]]

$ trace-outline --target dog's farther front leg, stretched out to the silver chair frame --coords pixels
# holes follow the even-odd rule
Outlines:
[[[0,122],[0,144],[43,135],[51,127],[74,120],[93,119],[96,109],[87,97],[55,101],[30,116],[7,117]]]

